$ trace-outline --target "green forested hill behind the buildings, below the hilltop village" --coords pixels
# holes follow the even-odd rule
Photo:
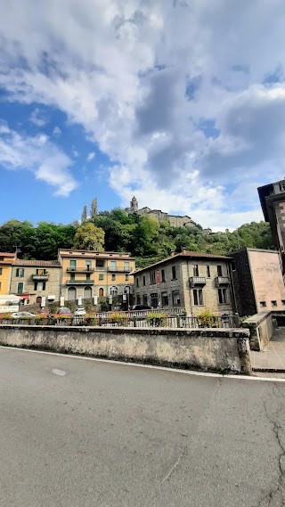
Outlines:
[[[175,228],[168,223],[159,225],[150,217],[128,216],[122,209],[112,209],[99,213],[86,223],[104,231],[105,250],[129,251],[137,258],[137,266],[167,257],[171,250],[178,253],[183,247],[216,254],[227,254],[244,247],[272,247],[270,228],[265,222],[241,225],[233,233],[207,235],[200,225]],[[0,251],[14,252],[18,248],[19,258],[54,259],[59,247],[69,249],[74,246],[78,229],[79,223],[39,222],[33,225],[28,221],[9,220],[0,226]]]

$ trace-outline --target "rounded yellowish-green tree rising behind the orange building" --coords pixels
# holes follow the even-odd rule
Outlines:
[[[98,250],[104,248],[105,233],[101,227],[96,227],[92,222],[87,222],[77,228],[73,246],[76,249]]]

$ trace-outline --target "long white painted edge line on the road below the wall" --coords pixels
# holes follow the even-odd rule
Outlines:
[[[102,359],[100,357],[85,357],[85,356],[77,356],[76,354],[61,354],[60,352],[47,352],[45,350],[32,350],[29,348],[20,348],[20,347],[8,347],[5,345],[0,345],[0,348],[12,348],[12,350],[20,350],[21,352],[30,352],[32,354],[47,354],[49,356],[60,356],[60,357],[69,357],[69,359],[83,359],[84,361],[97,361],[100,363],[108,363],[108,364],[123,364],[123,366],[132,366],[136,368],[150,368],[153,370],[163,370],[164,372],[175,372],[175,373],[183,373],[184,375],[197,375],[201,377],[216,377],[221,379],[223,377],[226,379],[234,379],[234,380],[262,380],[264,382],[285,382],[285,379],[270,379],[263,377],[249,377],[248,375],[221,375],[220,373],[208,373],[208,372],[194,372],[192,370],[178,370],[177,368],[167,368],[166,366],[154,366],[153,364],[140,364],[140,363],[125,363],[124,361],[114,361],[113,359]]]

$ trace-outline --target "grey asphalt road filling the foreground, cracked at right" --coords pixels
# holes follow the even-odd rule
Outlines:
[[[0,348],[0,505],[279,507],[284,395]]]

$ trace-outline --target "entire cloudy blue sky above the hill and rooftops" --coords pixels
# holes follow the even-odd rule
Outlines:
[[[284,0],[0,0],[0,222],[97,196],[212,228],[285,175]]]

